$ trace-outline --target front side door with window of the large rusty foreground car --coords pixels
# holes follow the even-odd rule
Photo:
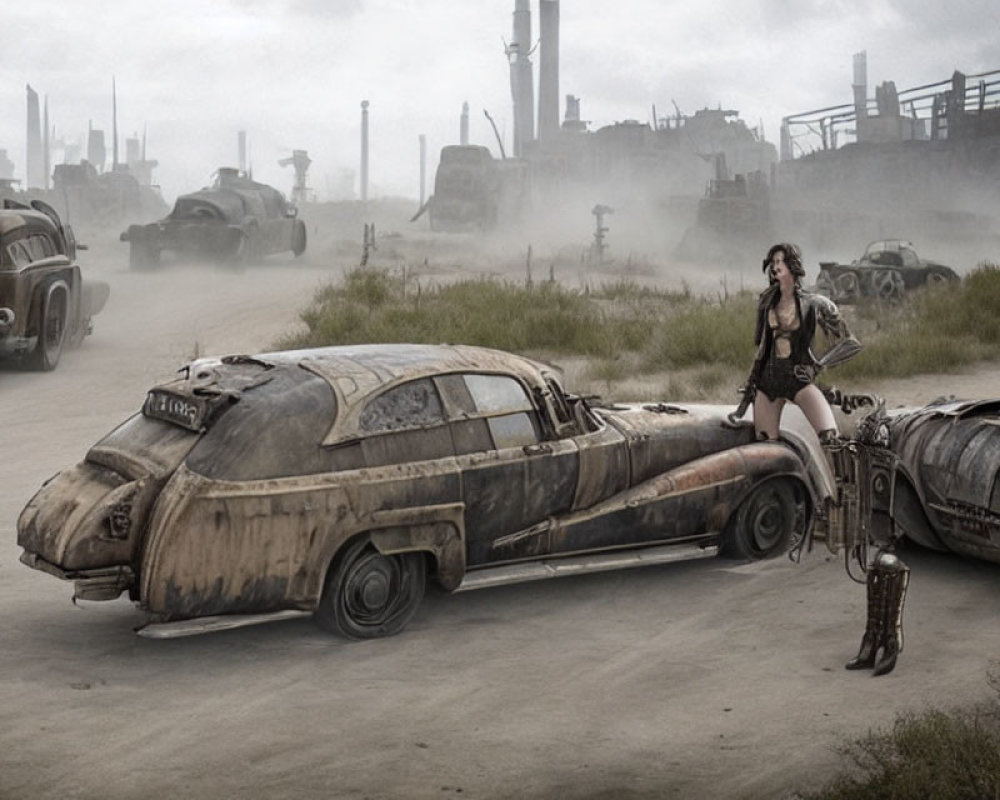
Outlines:
[[[459,373],[437,383],[462,476],[468,566],[543,555],[546,520],[572,508],[576,442],[545,439],[544,409],[510,375]]]

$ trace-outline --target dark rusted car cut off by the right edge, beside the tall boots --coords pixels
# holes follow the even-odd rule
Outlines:
[[[890,412],[897,524],[933,550],[1000,563],[1000,399]]]

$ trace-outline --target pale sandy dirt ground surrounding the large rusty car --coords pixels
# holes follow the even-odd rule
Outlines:
[[[993,696],[1000,568],[908,550],[906,648],[873,679],[843,663],[864,589],[817,550],[448,596],[400,636],[309,620],[178,640],[132,633],[124,599],[18,563],[39,485],[198,352],[293,330],[331,277],[275,259],[233,274],[130,273],[51,374],[0,372],[0,797],[774,798],[818,788],[845,737],[900,712]],[[995,366],[879,388],[899,403],[996,395]],[[675,398],[680,399],[680,398]]]

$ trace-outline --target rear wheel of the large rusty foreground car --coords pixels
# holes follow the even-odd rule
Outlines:
[[[366,537],[356,539],[327,573],[316,622],[348,639],[392,636],[413,617],[426,580],[423,553],[384,556]]]

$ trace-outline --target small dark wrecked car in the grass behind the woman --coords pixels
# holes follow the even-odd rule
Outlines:
[[[821,261],[816,291],[837,303],[855,303],[862,298],[896,303],[918,287],[958,281],[955,270],[920,258],[912,243],[879,239],[850,264]]]

